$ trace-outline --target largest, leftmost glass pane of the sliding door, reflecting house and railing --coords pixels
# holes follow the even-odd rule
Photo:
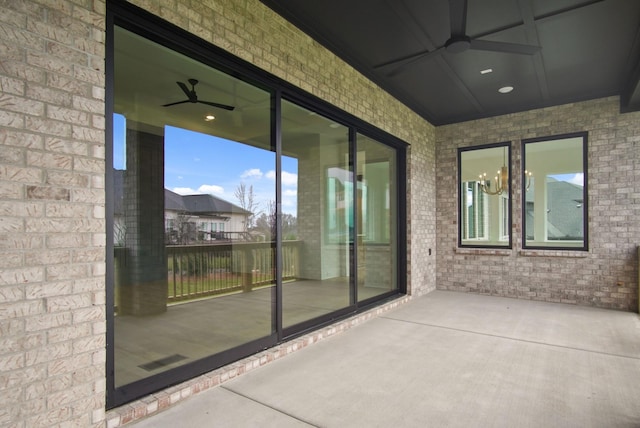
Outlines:
[[[275,244],[253,219],[275,201],[276,156],[269,92],[114,39],[118,388],[274,334]]]

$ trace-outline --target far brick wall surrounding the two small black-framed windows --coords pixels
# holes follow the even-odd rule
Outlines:
[[[589,132],[588,252],[523,251],[518,187],[512,201],[512,250],[456,248],[459,147],[511,141],[512,174],[519,177],[522,139],[578,131]],[[620,114],[618,99],[606,98],[443,126],[436,135],[439,289],[637,308],[640,113]]]

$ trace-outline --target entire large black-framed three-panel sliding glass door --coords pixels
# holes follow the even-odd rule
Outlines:
[[[108,407],[403,290],[404,145],[138,19],[109,34]]]

